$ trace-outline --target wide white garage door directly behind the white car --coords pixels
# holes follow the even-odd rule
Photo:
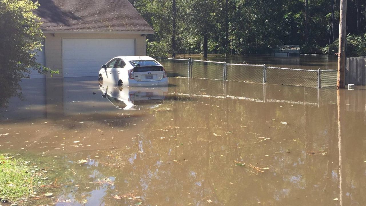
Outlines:
[[[64,77],[98,76],[100,66],[115,56],[135,55],[134,39],[62,39]]]

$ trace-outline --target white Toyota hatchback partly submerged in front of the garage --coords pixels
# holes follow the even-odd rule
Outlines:
[[[129,87],[168,85],[163,65],[150,56],[117,56],[101,66],[98,80]]]

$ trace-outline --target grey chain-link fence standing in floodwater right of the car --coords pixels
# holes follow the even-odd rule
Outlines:
[[[310,70],[266,65],[227,64],[193,59],[156,58],[168,77],[191,77],[212,80],[323,88],[337,85],[337,70]]]

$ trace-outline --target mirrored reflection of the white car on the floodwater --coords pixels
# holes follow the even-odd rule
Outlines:
[[[99,82],[102,97],[123,110],[154,108],[163,103],[168,87],[123,87],[112,82]]]

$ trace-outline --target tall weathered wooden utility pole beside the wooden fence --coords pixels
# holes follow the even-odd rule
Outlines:
[[[339,12],[339,48],[338,48],[338,74],[337,87],[344,88],[344,74],[346,70],[346,15],[347,0],[341,0]]]

